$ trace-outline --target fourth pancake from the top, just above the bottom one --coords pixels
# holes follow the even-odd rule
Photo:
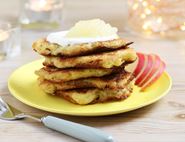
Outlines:
[[[69,90],[79,88],[99,88],[99,89],[123,89],[127,84],[134,80],[131,73],[118,73],[103,76],[100,78],[85,78],[67,82],[54,82],[42,77],[38,78],[39,86],[47,93],[54,93],[57,90]]]

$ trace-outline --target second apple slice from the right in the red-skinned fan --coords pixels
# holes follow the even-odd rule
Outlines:
[[[143,78],[143,80],[138,84],[138,86],[140,87],[142,87],[143,84],[145,84],[145,82],[147,82],[156,73],[156,71],[160,67],[161,60],[159,56],[154,55],[154,54],[151,54],[151,56],[153,57],[153,66],[151,70],[147,73],[147,75]]]

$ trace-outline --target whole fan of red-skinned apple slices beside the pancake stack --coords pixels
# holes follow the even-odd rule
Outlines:
[[[144,90],[154,83],[164,72],[165,63],[154,54],[137,53],[138,59],[126,66],[126,71],[132,72],[136,77],[136,85]]]

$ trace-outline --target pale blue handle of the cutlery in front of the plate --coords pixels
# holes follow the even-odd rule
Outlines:
[[[113,142],[112,136],[93,127],[74,123],[53,116],[42,117],[41,121],[46,127],[79,140],[87,142]]]

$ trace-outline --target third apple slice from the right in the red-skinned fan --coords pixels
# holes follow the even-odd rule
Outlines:
[[[151,54],[146,56],[148,57],[147,65],[144,68],[143,73],[136,79],[136,84],[140,84],[143,80],[145,80],[148,74],[152,71],[152,67],[154,65],[154,57]]]

